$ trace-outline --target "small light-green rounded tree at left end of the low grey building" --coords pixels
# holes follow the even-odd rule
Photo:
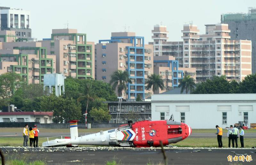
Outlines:
[[[111,119],[111,115],[108,114],[108,111],[102,108],[92,108],[92,110],[90,111],[90,115],[96,122],[108,122]]]

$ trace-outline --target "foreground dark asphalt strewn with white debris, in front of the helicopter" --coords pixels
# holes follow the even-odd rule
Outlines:
[[[115,160],[122,164],[158,164],[163,162],[160,148],[127,147],[1,147],[5,159],[26,156],[28,161],[43,160],[47,164],[106,164]],[[256,149],[249,148],[167,148],[168,164],[256,164]],[[228,156],[251,155],[252,161],[228,161]],[[35,158],[36,157],[36,158]]]

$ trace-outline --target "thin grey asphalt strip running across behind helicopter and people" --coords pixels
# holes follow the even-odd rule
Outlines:
[[[90,133],[86,133],[86,134],[90,134]],[[78,131],[78,135],[79,136],[84,136],[85,133],[79,133]],[[22,137],[22,133],[5,133],[5,132],[1,132],[0,133],[0,137],[11,137],[11,136],[20,136]],[[70,136],[70,133],[39,133],[40,137],[56,137],[56,136]],[[216,134],[214,133],[192,133],[189,137],[195,137],[195,138],[216,138]],[[226,135],[224,134],[223,137],[226,137]],[[245,137],[247,138],[256,138],[256,133],[245,133]]]

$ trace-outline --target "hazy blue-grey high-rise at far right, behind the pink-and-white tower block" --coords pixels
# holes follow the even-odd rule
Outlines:
[[[256,8],[250,7],[248,14],[223,14],[221,23],[228,24],[231,39],[252,40],[252,73],[256,73]]]

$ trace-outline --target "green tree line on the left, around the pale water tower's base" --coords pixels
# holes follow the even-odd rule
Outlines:
[[[53,111],[55,123],[73,119],[84,122],[83,114],[86,110],[89,122],[110,120],[108,105],[104,102],[116,101],[117,96],[109,83],[71,77],[67,77],[64,81],[65,93],[56,97],[54,93],[52,95],[45,93],[42,84],[28,84],[15,73],[2,74],[0,75],[0,110],[14,104],[21,111]]]

